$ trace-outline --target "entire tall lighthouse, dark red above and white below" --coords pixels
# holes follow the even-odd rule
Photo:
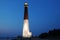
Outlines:
[[[29,19],[28,19],[28,3],[24,4],[24,23],[23,23],[23,37],[30,38],[32,33],[29,30]]]

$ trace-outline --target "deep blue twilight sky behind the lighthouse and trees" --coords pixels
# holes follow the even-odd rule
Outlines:
[[[60,29],[60,0],[0,0],[0,36],[22,35],[26,1],[33,35]]]

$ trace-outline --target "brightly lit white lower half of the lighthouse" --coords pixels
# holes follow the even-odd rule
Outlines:
[[[29,23],[28,23],[28,19],[24,20],[24,25],[23,25],[23,37],[25,38],[29,38],[32,36],[32,33],[29,32]]]

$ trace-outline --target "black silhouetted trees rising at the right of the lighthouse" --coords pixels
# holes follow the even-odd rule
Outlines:
[[[39,38],[60,38],[60,29],[50,30],[48,33],[42,33]]]

